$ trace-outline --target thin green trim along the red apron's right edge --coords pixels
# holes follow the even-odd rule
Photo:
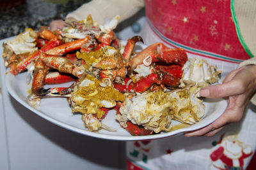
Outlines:
[[[253,53],[250,51],[250,49],[246,45],[246,43],[245,43],[245,41],[243,39],[243,36],[241,34],[241,31],[240,31],[239,22],[237,20],[236,12],[235,12],[235,0],[231,0],[230,1],[230,8],[231,8],[231,13],[232,13],[232,18],[233,18],[235,26],[236,26],[236,32],[237,32],[238,39],[239,39],[241,45],[243,46],[244,50],[252,58],[253,57]]]

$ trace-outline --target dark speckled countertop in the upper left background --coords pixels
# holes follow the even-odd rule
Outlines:
[[[64,19],[88,0],[27,0],[8,10],[0,10],[0,39],[15,36],[25,28],[39,29],[52,20]],[[2,3],[1,3],[2,4]]]

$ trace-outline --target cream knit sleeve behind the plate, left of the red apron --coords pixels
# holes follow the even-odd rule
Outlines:
[[[83,20],[88,14],[91,14],[93,20],[103,25],[106,18],[111,19],[116,15],[120,15],[118,22],[122,22],[143,7],[143,0],[93,0],[69,13],[66,18],[73,17],[76,20]]]

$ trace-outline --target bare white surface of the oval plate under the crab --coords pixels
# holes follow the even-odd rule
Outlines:
[[[141,50],[145,48],[143,45],[136,45],[136,50]],[[3,48],[1,47],[1,51]],[[2,54],[1,54],[2,55]],[[129,132],[125,131],[118,122],[115,120],[116,112],[114,110],[109,111],[108,115],[102,122],[106,125],[114,127],[117,129],[116,132],[108,132],[104,129],[99,132],[90,132],[86,127],[84,127],[83,121],[81,120],[81,115],[73,115],[71,108],[67,102],[67,99],[61,97],[45,98],[41,100],[40,108],[35,109],[31,107],[26,101],[26,97],[31,91],[31,86],[26,84],[27,73],[20,73],[17,76],[13,76],[11,73],[5,74],[5,83],[8,92],[15,98],[20,104],[28,108],[29,110],[35,112],[42,118],[49,120],[56,125],[60,125],[65,129],[70,131],[78,132],[87,136],[92,136],[95,138],[111,139],[118,141],[136,141],[136,140],[148,140],[148,139],[160,139],[167,138],[170,136],[175,136],[177,134],[182,134],[182,132],[193,131],[205,127],[211,124],[223,113],[227,107],[227,102],[223,99],[207,99],[205,100],[205,115],[202,120],[189,127],[184,127],[177,129],[172,132],[161,132],[159,134],[148,135],[148,136],[131,136]],[[61,85],[47,85],[45,88],[49,87],[67,87],[70,83],[65,83]],[[172,125],[179,125],[180,123],[173,120]],[[177,126],[176,126],[177,127]]]

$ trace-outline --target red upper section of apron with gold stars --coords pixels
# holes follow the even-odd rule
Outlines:
[[[151,29],[165,43],[228,62],[250,59],[236,32],[230,0],[145,0]]]

